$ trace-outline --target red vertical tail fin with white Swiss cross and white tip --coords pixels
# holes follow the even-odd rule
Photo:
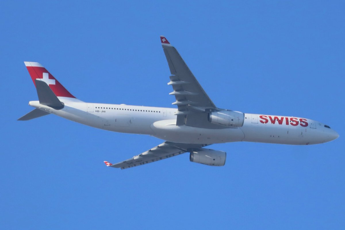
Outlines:
[[[26,68],[29,71],[30,77],[33,81],[33,84],[36,87],[35,80],[41,80],[48,84],[50,89],[54,92],[57,97],[68,97],[68,98],[76,98],[70,92],[65,89],[65,87],[60,84],[58,80],[56,80],[46,68],[44,68],[38,62],[28,62],[24,61]]]

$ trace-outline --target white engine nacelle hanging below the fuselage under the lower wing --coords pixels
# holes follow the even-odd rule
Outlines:
[[[200,149],[190,152],[189,160],[209,166],[224,166],[226,160],[226,152],[213,149]]]

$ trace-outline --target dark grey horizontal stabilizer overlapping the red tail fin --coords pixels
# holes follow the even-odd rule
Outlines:
[[[53,109],[62,109],[63,103],[58,99],[54,92],[49,88],[48,84],[41,80],[35,80],[38,100],[40,104],[44,104]]]

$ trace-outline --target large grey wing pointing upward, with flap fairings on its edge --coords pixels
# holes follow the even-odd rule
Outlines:
[[[170,95],[174,95],[178,111],[176,125],[187,125],[199,128],[221,128],[207,121],[209,111],[218,110],[200,86],[187,64],[181,58],[176,48],[171,46],[166,37],[160,36],[160,41],[170,69],[172,86]]]

